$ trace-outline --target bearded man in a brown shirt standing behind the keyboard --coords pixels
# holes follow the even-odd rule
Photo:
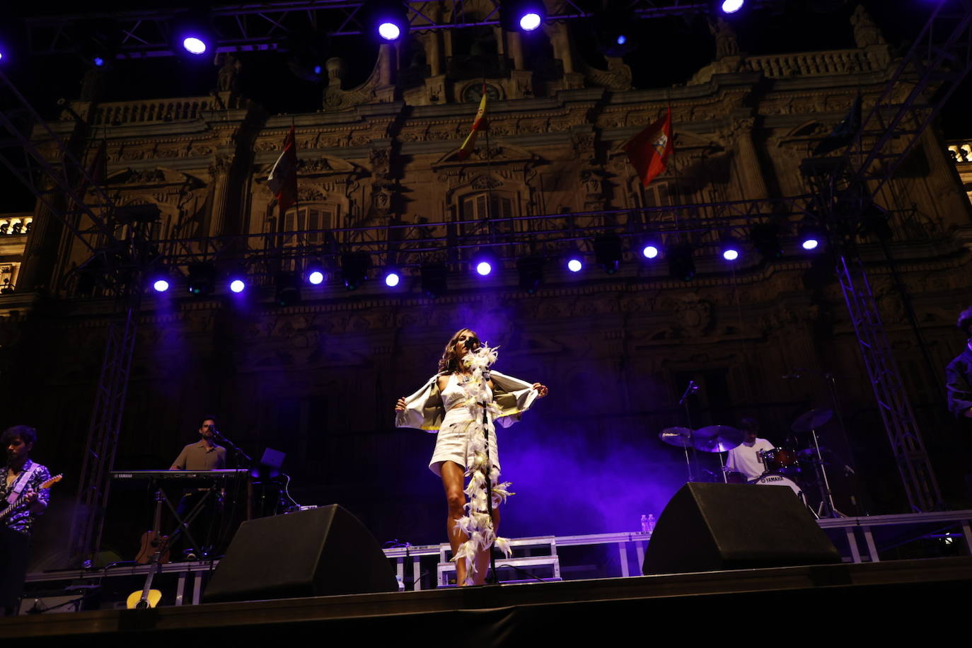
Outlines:
[[[215,432],[216,418],[204,417],[199,425],[199,440],[183,448],[179,457],[169,466],[169,470],[220,470],[226,468],[226,448],[213,441]],[[176,507],[179,517],[185,520],[196,503],[205,498],[203,510],[190,526],[192,537],[203,546],[186,549],[185,555],[189,560],[210,553],[215,539],[214,531],[217,526],[217,518],[223,512],[225,491],[221,489],[211,494],[208,492],[209,489],[188,490],[179,500],[179,506]],[[209,496],[206,497],[206,495]]]

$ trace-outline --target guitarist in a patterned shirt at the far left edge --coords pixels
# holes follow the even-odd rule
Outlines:
[[[48,469],[30,460],[37,430],[13,426],[4,430],[0,443],[7,449],[7,465],[0,469],[0,505],[7,507],[22,497],[0,525],[0,608],[5,616],[17,613],[30,559],[30,528],[34,518],[48,507],[51,492],[40,485],[51,479]]]

